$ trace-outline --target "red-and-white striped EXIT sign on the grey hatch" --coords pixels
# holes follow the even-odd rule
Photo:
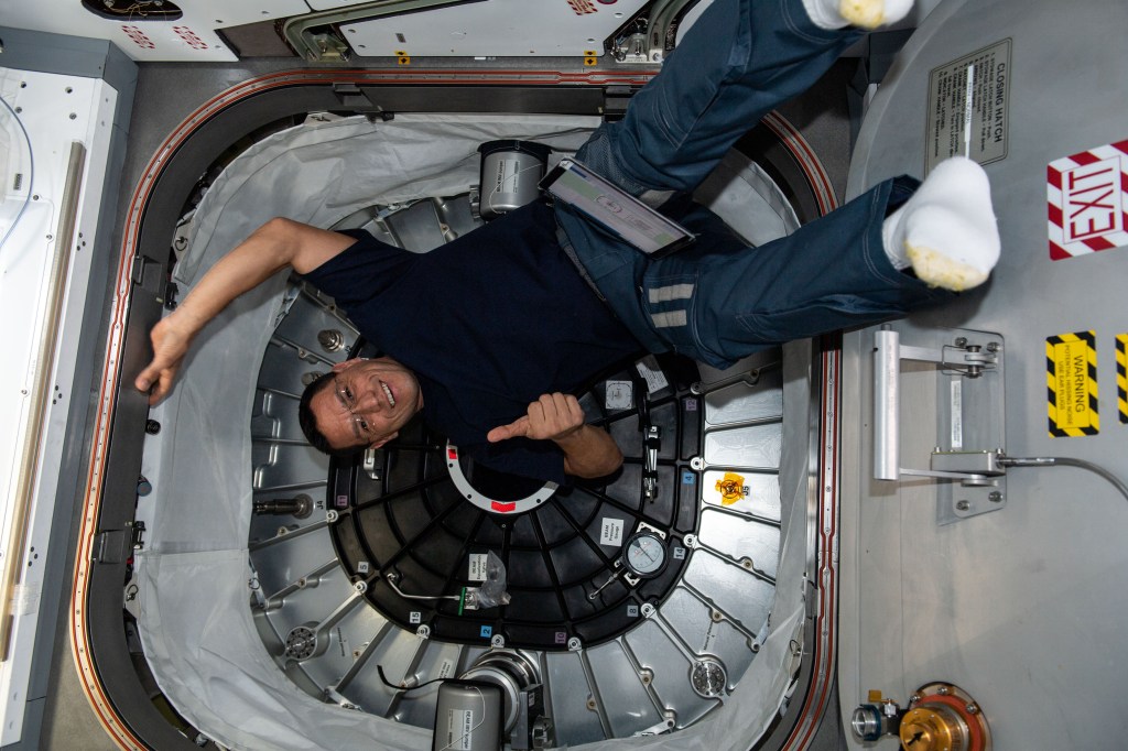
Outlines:
[[[1050,258],[1128,246],[1128,140],[1046,168]]]

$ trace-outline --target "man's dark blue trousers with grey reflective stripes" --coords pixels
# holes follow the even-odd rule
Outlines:
[[[715,0],[626,116],[600,126],[576,158],[637,196],[693,191],[858,36],[816,27],[801,0]],[[565,206],[556,215],[590,280],[647,350],[724,368],[767,346],[950,297],[895,270],[882,248],[882,221],[915,185],[887,180],[755,249],[706,210],[681,206],[673,213],[697,241],[659,259]]]

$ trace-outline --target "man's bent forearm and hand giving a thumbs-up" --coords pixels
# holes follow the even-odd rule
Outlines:
[[[553,441],[564,452],[564,471],[576,477],[603,477],[623,465],[623,452],[606,431],[583,422],[583,408],[571,394],[545,394],[523,417],[495,427],[491,443],[523,435]]]

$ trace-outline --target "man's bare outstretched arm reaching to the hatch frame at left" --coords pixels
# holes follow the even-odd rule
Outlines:
[[[310,227],[289,219],[272,219],[212,266],[176,310],[152,328],[152,362],[134,381],[157,404],[173,388],[188,345],[208,321],[229,302],[276,272],[314,271],[355,240],[347,235]]]

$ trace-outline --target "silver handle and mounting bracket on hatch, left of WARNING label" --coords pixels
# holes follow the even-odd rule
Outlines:
[[[1006,502],[1003,337],[972,330],[917,334],[909,346],[889,325],[873,342],[873,477],[936,480],[936,520],[948,524],[997,511]],[[901,361],[933,363],[937,374],[937,436],[928,469],[900,466]]]

